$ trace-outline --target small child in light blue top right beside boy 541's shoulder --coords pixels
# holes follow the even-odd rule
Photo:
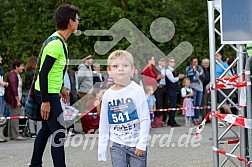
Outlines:
[[[153,87],[152,86],[146,86],[145,87],[146,92],[146,98],[150,110],[150,120],[151,120],[151,127],[156,128],[156,125],[154,123],[154,111],[156,110],[156,98],[153,95]]]

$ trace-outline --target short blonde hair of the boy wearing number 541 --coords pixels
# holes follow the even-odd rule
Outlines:
[[[108,66],[110,66],[111,60],[116,59],[118,57],[126,58],[129,61],[129,63],[132,66],[134,66],[133,56],[129,52],[125,51],[125,50],[115,50],[114,52],[112,52],[109,55],[108,60],[107,60]]]

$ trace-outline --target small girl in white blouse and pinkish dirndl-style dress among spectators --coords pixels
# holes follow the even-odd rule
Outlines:
[[[181,89],[181,96],[183,100],[183,115],[185,115],[185,126],[190,126],[192,124],[192,117],[194,116],[193,109],[193,90],[190,88],[190,79],[185,78],[183,80],[183,88]]]

